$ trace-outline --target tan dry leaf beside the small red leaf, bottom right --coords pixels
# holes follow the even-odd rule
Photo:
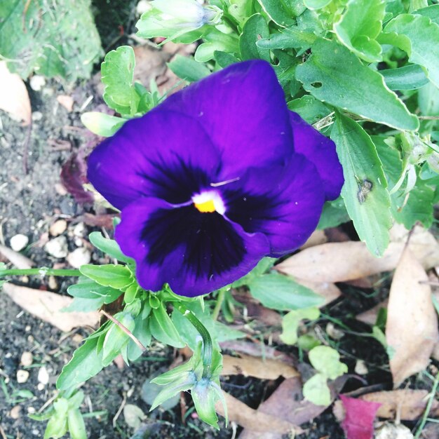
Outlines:
[[[393,391],[367,393],[359,397],[365,401],[380,403],[377,416],[386,419],[414,421],[424,414],[428,401],[428,391],[401,389]],[[439,415],[439,401],[433,400],[430,416]]]

